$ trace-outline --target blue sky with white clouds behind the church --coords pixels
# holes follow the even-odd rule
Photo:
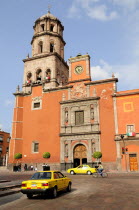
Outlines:
[[[23,59],[31,57],[36,19],[51,13],[64,25],[65,61],[91,56],[91,78],[118,78],[118,91],[139,88],[139,0],[0,0],[0,129],[11,132]]]

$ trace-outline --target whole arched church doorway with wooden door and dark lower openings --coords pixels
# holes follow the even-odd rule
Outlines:
[[[87,150],[83,144],[78,144],[73,151],[74,167],[87,164]]]

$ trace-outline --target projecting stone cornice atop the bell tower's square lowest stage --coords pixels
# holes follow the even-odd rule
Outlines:
[[[64,59],[57,53],[57,52],[53,52],[53,53],[45,53],[45,54],[40,54],[31,58],[26,58],[23,59],[23,62],[27,62],[27,61],[31,61],[31,60],[36,60],[36,59],[40,59],[40,58],[45,58],[45,57],[49,57],[49,56],[56,56],[60,61],[62,61],[62,63],[69,68],[68,64],[64,61]]]

